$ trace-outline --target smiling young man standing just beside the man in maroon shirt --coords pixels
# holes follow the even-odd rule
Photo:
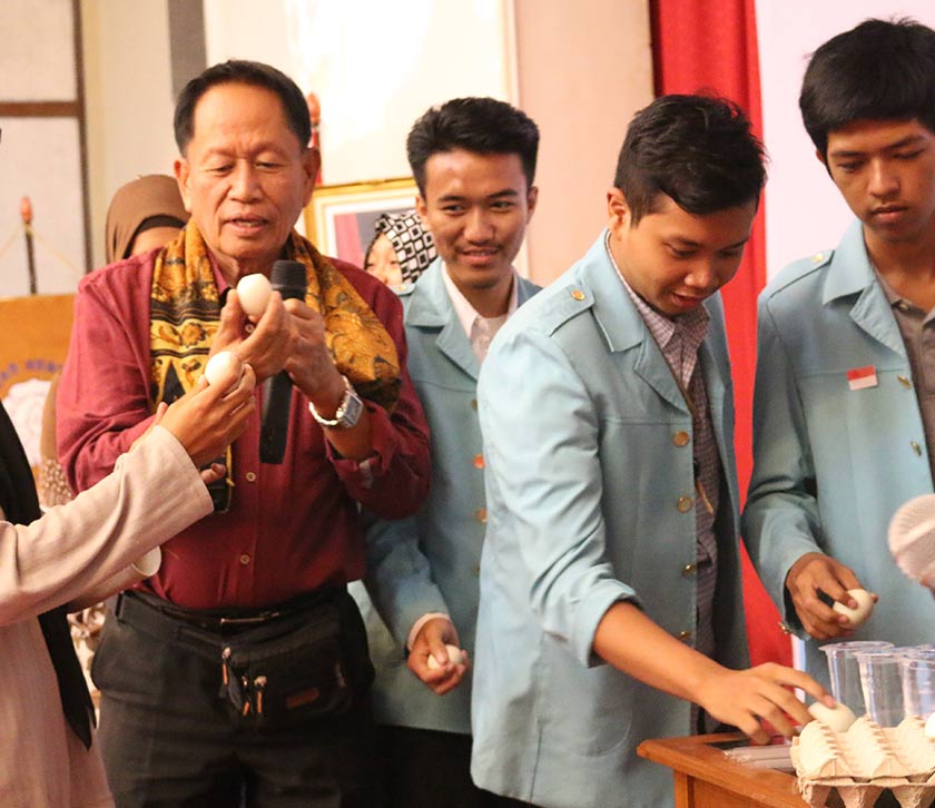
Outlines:
[[[395,638],[365,608],[388,802],[509,805],[471,782],[471,673],[445,644],[473,653],[485,521],[478,374],[499,328],[538,290],[513,260],[535,209],[539,129],[503,101],[457,98],[425,112],[406,146],[439,252],[401,292],[436,484],[414,518],[367,533],[367,585]]]

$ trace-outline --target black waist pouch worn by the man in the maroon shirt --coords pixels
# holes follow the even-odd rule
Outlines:
[[[220,694],[257,728],[347,712],[373,682],[366,630],[346,591],[230,637]]]

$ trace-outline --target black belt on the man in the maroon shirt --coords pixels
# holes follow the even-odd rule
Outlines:
[[[130,618],[131,622],[131,615],[144,618],[144,620],[149,617],[150,620],[146,620],[146,622],[150,623],[152,618],[161,617],[214,634],[229,635],[280,618],[308,611],[321,603],[333,600],[342,591],[344,590],[327,587],[298,595],[284,603],[262,608],[186,609],[157,598],[155,594],[129,590],[118,597],[114,612],[118,618]]]

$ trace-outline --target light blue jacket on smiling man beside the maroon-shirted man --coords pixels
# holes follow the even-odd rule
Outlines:
[[[516,302],[522,305],[539,287],[522,278],[519,283]],[[409,670],[404,648],[419,618],[443,612],[473,657],[486,513],[476,401],[480,367],[445,288],[441,259],[401,296],[409,372],[432,434],[432,490],[412,519],[380,521],[367,532],[367,588],[392,635],[362,588],[354,592],[362,601],[377,669],[377,721],[469,733],[471,673],[453,691],[436,696]]]

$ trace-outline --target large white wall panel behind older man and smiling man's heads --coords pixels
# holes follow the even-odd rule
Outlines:
[[[409,176],[405,138],[430,106],[512,100],[509,0],[204,0],[209,65],[265,61],[322,104],[328,185]]]

